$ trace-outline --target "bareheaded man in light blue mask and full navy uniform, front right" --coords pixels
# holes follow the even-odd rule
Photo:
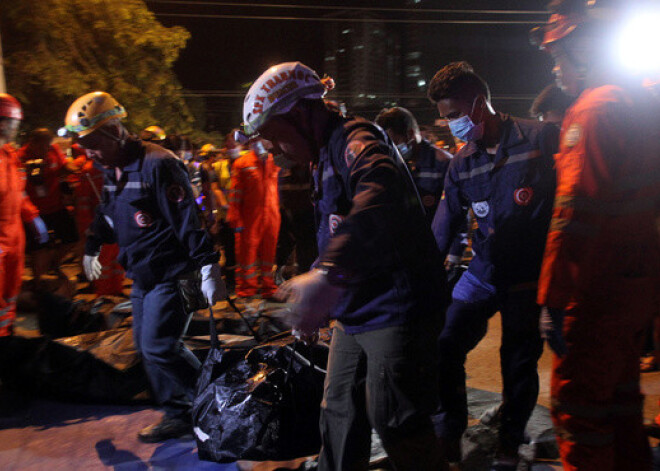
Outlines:
[[[439,70],[428,96],[452,134],[467,141],[449,165],[433,221],[441,255],[447,255],[468,208],[478,223],[474,258],[452,292],[438,342],[442,382],[436,432],[450,461],[460,460],[467,426],[465,358],[500,311],[504,388],[491,469],[515,470],[539,388],[543,343],[535,295],[555,189],[552,154],[540,151],[543,125],[496,113],[488,85],[465,62]]]

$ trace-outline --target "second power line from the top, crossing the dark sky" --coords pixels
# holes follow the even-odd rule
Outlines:
[[[546,21],[527,20],[406,20],[389,18],[325,18],[298,16],[254,16],[216,15],[210,13],[155,13],[156,16],[172,18],[208,18],[215,20],[276,20],[276,21],[320,21],[325,23],[409,23],[409,24],[456,24],[456,25],[541,25]]]

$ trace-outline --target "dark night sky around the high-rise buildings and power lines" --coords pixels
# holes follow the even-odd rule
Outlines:
[[[414,2],[410,0],[409,3]],[[240,122],[242,85],[255,80],[266,68],[279,62],[300,60],[323,72],[323,27],[317,21],[280,21],[187,18],[186,14],[216,14],[242,16],[298,16],[321,17],[331,11],[307,9],[273,9],[245,6],[247,3],[267,3],[251,0],[241,6],[213,5],[213,0],[160,3],[147,0],[148,7],[166,26],[181,25],[190,33],[187,47],[175,65],[175,71],[186,90],[216,91],[224,96],[206,96],[208,127],[220,131]],[[201,5],[206,3],[207,5]],[[230,3],[230,2],[223,2]],[[320,5],[370,7],[407,7],[405,0],[339,1],[331,4],[323,1],[269,0],[268,3],[287,5]],[[547,0],[421,0],[418,8],[451,10],[529,10],[543,11]],[[175,14],[164,16],[161,14]],[[356,15],[357,13],[351,13]],[[382,13],[387,18],[401,19],[405,13]],[[546,15],[465,15],[465,14],[416,14],[416,19],[502,19],[543,20]],[[550,61],[527,44],[527,31],[533,25],[424,25],[425,35],[437,50],[426,54],[424,71],[432,75],[434,70],[451,60],[467,59],[491,85],[494,95],[532,96],[551,81]],[[492,41],[502,44],[501,51],[493,53]],[[436,64],[437,63],[437,64]],[[430,79],[430,76],[427,78]],[[234,96],[226,96],[233,93]],[[504,111],[522,113],[529,107],[529,100],[501,100]],[[498,100],[494,100],[498,105]],[[369,116],[368,116],[369,117]]]

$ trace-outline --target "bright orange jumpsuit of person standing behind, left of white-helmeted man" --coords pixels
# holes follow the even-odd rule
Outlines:
[[[277,289],[272,268],[275,263],[280,209],[277,196],[279,168],[269,154],[266,160],[249,151],[231,168],[227,221],[236,234],[238,264],[236,294],[269,298]]]

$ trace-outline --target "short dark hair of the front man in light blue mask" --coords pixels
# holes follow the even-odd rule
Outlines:
[[[472,102],[484,95],[490,101],[490,89],[467,62],[452,62],[438,70],[429,83],[427,96],[433,103],[446,98]]]

